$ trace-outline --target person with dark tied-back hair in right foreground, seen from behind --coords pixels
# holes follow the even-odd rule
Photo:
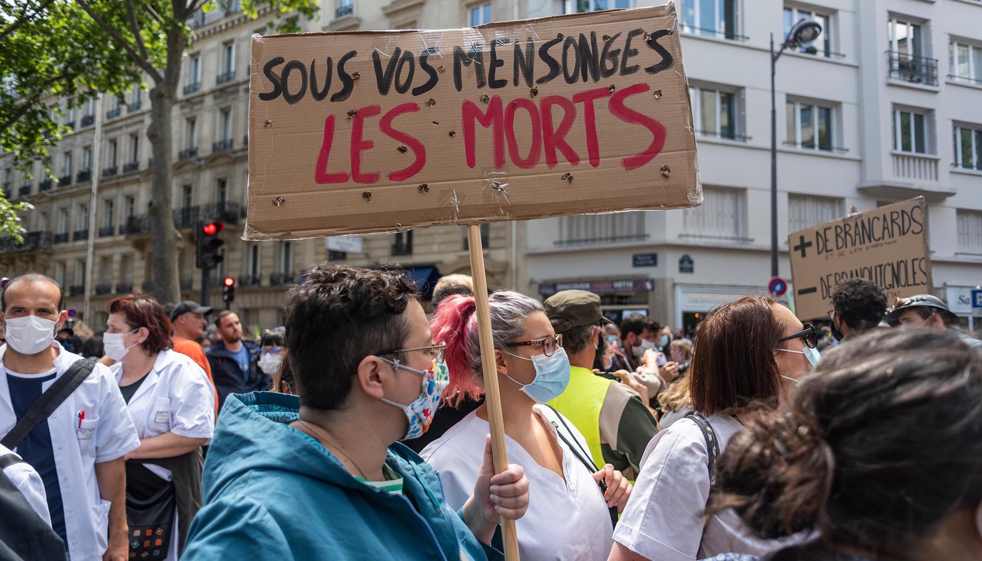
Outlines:
[[[870,332],[801,381],[790,412],[734,436],[721,494],[773,561],[982,559],[982,355],[954,334]],[[718,559],[754,559],[720,555]]]

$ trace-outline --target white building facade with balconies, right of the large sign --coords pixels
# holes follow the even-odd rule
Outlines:
[[[608,317],[686,328],[766,293],[769,42],[800,19],[824,30],[777,63],[780,275],[791,280],[789,232],[924,195],[935,293],[956,300],[956,286],[982,282],[982,2],[678,4],[705,203],[529,223],[529,291],[585,287]]]

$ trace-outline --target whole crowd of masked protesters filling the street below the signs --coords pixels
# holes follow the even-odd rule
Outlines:
[[[254,340],[140,292],[82,337],[11,280],[0,558],[502,559],[503,518],[533,560],[982,558],[982,341],[940,298],[843,280],[816,325],[747,295],[683,332],[499,290],[489,373],[473,290],[324,263]]]

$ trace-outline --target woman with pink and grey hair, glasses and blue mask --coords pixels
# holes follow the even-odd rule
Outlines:
[[[516,522],[520,555],[607,559],[617,518],[611,510],[624,507],[631,485],[610,464],[596,469],[582,434],[546,405],[570,381],[562,335],[528,296],[500,290],[489,305],[508,458],[524,469],[530,489],[528,510]],[[477,398],[484,388],[474,307],[473,296],[449,296],[430,321],[433,340],[447,344],[450,385],[443,399],[451,405],[466,395]],[[455,509],[464,505],[484,460],[487,419],[483,403],[421,453],[443,477]]]

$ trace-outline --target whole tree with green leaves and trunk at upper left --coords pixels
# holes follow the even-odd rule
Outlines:
[[[181,299],[177,260],[180,234],[172,220],[171,113],[185,50],[198,10],[228,8],[229,0],[0,0],[0,147],[27,166],[47,157],[69,130],[48,110],[51,98],[79,107],[96,92],[121,96],[134,82],[149,90],[153,151],[150,248],[154,292],[163,302]],[[268,6],[279,31],[299,30],[298,17],[314,19],[316,0],[241,0],[255,19]],[[50,173],[49,171],[47,173]],[[6,206],[5,206],[6,205]],[[0,231],[9,214],[27,210],[0,201]]]

